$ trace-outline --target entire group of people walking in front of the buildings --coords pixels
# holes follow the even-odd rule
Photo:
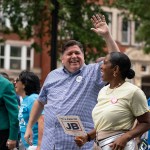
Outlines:
[[[146,96],[126,81],[135,72],[105,17],[93,15],[91,22],[108,48],[98,62],[86,65],[82,44],[69,40],[62,47],[62,67],[42,87],[31,71],[22,71],[14,85],[0,76],[0,150],[15,148],[19,135],[24,150],[137,149],[134,139],[150,129]],[[79,116],[87,134],[65,134],[57,116]]]

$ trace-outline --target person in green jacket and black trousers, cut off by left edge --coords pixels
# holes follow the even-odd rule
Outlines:
[[[0,150],[16,147],[18,140],[18,102],[13,84],[0,75]]]

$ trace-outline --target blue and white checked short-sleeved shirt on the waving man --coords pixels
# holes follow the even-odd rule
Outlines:
[[[91,112],[103,86],[100,63],[84,65],[75,73],[61,67],[48,74],[38,98],[45,104],[41,150],[92,149],[93,142],[79,148],[74,137],[64,133],[57,115],[79,116],[86,132],[90,131],[94,128]]]

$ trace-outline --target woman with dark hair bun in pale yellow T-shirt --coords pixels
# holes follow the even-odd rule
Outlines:
[[[135,150],[134,138],[150,129],[150,112],[144,92],[125,81],[135,76],[130,59],[124,53],[112,52],[105,57],[101,72],[102,80],[109,84],[100,90],[92,111],[95,129],[75,141],[83,146],[96,139],[97,149]]]

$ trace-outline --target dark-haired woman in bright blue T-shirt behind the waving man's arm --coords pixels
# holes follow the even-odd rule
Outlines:
[[[20,125],[20,133],[21,133],[21,141],[23,146],[26,149],[30,149],[31,147],[36,148],[38,145],[38,138],[39,142],[41,141],[42,134],[38,137],[38,130],[40,131],[43,129],[43,122],[40,119],[40,123],[36,122],[33,126],[33,141],[32,146],[30,146],[24,139],[24,134],[26,131],[26,127],[28,124],[30,112],[33,106],[34,101],[37,99],[39,91],[40,91],[40,80],[36,74],[30,71],[22,71],[19,74],[18,79],[16,80],[15,84],[16,93],[22,97],[22,102],[19,108],[19,125]],[[38,145],[38,149],[40,145]]]

